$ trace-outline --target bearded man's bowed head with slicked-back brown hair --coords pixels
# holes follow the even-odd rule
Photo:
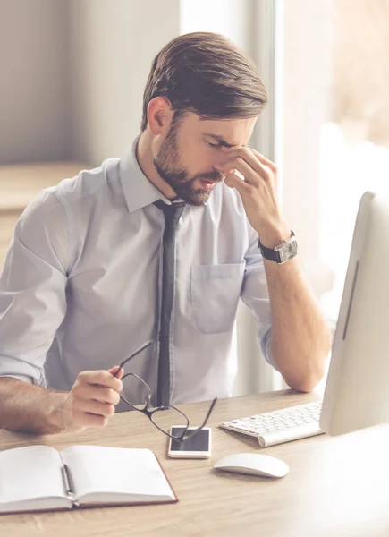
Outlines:
[[[246,145],[266,90],[249,58],[214,33],[180,36],[153,61],[141,131],[152,138],[158,175],[182,200],[207,201],[223,179],[223,149]]]

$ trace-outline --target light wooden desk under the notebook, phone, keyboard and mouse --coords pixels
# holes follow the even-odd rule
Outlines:
[[[166,440],[140,413],[115,415],[105,430],[35,437],[0,431],[0,448],[47,444],[149,447],[160,458],[179,503],[106,507],[36,515],[0,516],[0,534],[21,537],[236,536],[387,537],[389,535],[389,430],[387,427],[330,438],[320,435],[261,450],[256,439],[218,429],[219,422],[317,400],[292,390],[220,400],[211,417],[210,460],[173,460]],[[201,422],[207,403],[182,405]],[[222,456],[247,451],[279,456],[290,473],[280,480],[216,473]],[[371,456],[370,469],[361,459]],[[359,465],[357,465],[359,464]]]

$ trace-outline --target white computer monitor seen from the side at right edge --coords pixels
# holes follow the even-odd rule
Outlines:
[[[389,197],[365,192],[320,415],[330,435],[389,422]]]

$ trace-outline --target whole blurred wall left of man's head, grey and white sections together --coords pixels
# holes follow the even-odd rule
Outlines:
[[[120,156],[179,0],[0,0],[0,164]]]

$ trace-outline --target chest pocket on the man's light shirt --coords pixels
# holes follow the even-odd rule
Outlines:
[[[190,274],[192,325],[204,334],[233,328],[245,261],[227,265],[193,265]]]

